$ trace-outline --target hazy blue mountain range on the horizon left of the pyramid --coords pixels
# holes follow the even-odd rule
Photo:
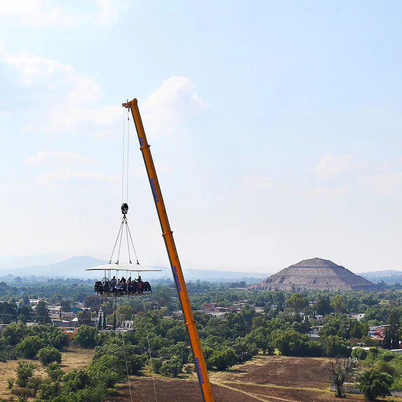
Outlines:
[[[89,256],[71,257],[68,260],[56,262],[46,265],[34,265],[24,268],[8,268],[0,269],[0,277],[12,274],[14,276],[45,276],[45,277],[64,277],[64,278],[95,278],[99,276],[97,271],[85,271],[85,269],[95,267],[97,265],[107,264],[109,261],[99,260]],[[2,264],[3,265],[3,264]],[[1,266],[1,265],[0,265]],[[135,269],[136,264],[133,264]],[[145,279],[168,278],[172,276],[170,267],[152,266],[150,269],[160,269],[161,272],[147,272],[142,277]],[[123,270],[124,271],[124,270]],[[269,273],[257,272],[231,272],[231,271],[215,271],[204,269],[183,269],[186,280],[241,280],[243,278],[265,278]]]

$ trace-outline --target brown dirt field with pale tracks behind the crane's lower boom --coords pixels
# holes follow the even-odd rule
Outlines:
[[[339,402],[330,392],[323,358],[260,356],[227,372],[210,372],[216,402]],[[154,388],[155,382],[155,388]],[[131,377],[133,400],[203,402],[195,374],[186,379],[158,375]],[[112,400],[112,397],[110,398]],[[129,402],[128,383],[120,384],[113,400]],[[361,402],[363,395],[346,395],[345,402]],[[401,402],[389,397],[378,401]]]

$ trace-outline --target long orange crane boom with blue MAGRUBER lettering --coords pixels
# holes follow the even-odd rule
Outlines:
[[[205,402],[215,402],[214,393],[205,363],[203,349],[198,337],[197,327],[195,325],[194,316],[192,314],[190,299],[188,297],[187,287],[184,282],[183,272],[181,270],[179,257],[177,256],[176,246],[174,244],[173,232],[170,230],[169,220],[162,198],[159,181],[156,176],[154,162],[152,160],[151,151],[145,136],[144,126],[142,124],[140,111],[138,109],[137,99],[131,100],[123,104],[123,107],[131,109],[134,124],[137,130],[138,139],[140,141],[140,150],[144,157],[145,167],[147,169],[149,183],[151,185],[152,194],[155,201],[156,210],[158,211],[160,225],[162,227],[162,236],[165,240],[167,254],[169,255],[170,266],[172,268],[174,282],[176,284],[177,294],[184,316],[185,326],[187,327],[190,338],[191,349],[194,355],[195,368],[197,370],[198,382],[203,392]]]

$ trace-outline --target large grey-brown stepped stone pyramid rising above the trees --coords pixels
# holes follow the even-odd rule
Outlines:
[[[290,265],[249,287],[262,290],[378,290],[377,285],[330,260],[312,258]]]

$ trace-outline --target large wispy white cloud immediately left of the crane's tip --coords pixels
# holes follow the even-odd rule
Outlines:
[[[0,60],[11,67],[15,78],[39,96],[37,108],[47,110],[38,113],[38,119],[29,129],[44,131],[85,131],[105,134],[112,132],[122,116],[121,105],[90,108],[98,103],[102,85],[95,75],[75,70],[68,64],[43,56],[22,52],[10,55],[0,43]],[[54,106],[56,105],[56,106]],[[39,127],[36,127],[39,126]]]

